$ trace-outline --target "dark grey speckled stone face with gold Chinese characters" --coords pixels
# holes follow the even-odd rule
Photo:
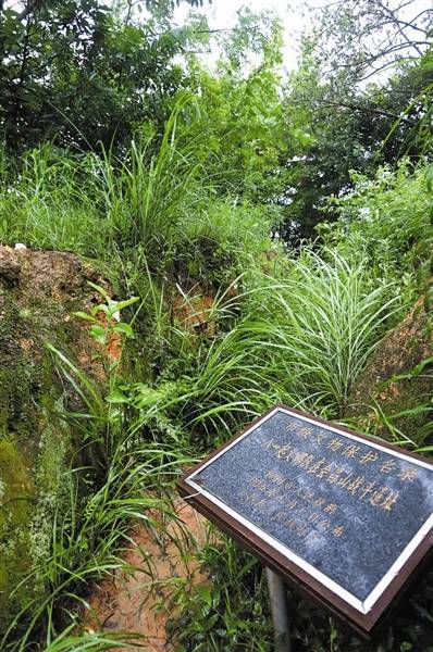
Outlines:
[[[193,480],[361,602],[433,512],[433,467],[282,410]]]

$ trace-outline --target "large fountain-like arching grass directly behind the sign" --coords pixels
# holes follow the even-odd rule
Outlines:
[[[206,449],[275,402],[343,416],[398,310],[392,284],[372,288],[362,263],[336,253],[306,252],[284,280],[256,273],[209,310],[221,329],[199,344],[189,377],[132,386],[137,418],[171,419]]]

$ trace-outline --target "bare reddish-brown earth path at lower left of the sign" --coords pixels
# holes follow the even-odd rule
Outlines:
[[[175,510],[182,523],[168,523],[166,516],[154,513],[163,528],[141,524],[134,528],[135,546],[123,557],[140,570],[117,573],[96,587],[89,599],[87,630],[139,634],[145,639],[137,639],[137,651],[174,650],[165,625],[176,614],[176,591],[208,581],[195,554],[208,538],[206,521],[183,500],[175,502]]]

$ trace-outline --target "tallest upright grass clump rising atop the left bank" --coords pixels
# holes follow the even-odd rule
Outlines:
[[[197,142],[177,139],[177,126],[188,97],[181,97],[156,150],[154,135],[133,141],[123,160],[106,152],[100,164],[103,210],[131,246],[140,246],[154,260],[181,237],[182,223],[201,199],[195,196],[203,171]],[[202,138],[203,135],[200,135]]]

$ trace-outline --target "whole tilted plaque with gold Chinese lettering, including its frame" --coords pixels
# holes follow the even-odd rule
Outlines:
[[[431,463],[284,406],[213,453],[178,489],[363,632],[432,547]]]

